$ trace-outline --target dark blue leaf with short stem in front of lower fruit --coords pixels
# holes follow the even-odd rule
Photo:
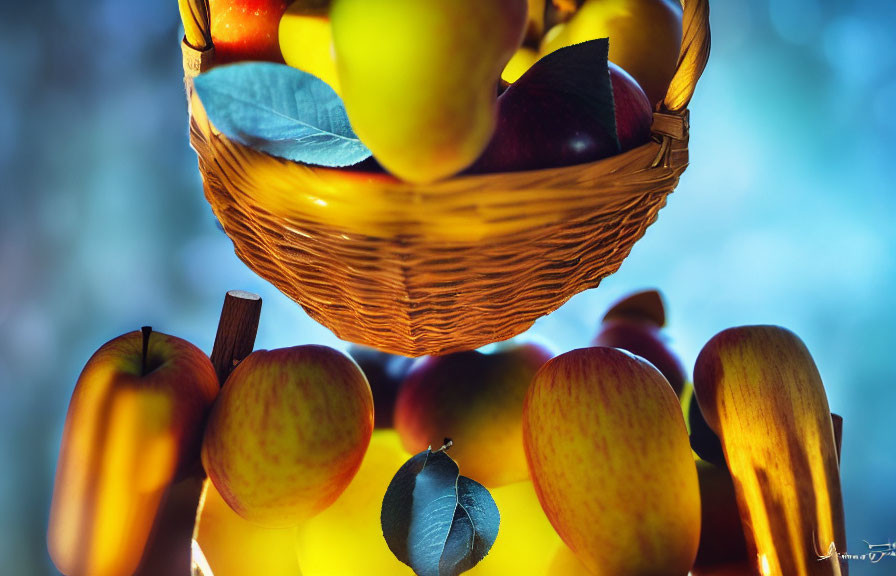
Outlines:
[[[459,476],[444,451],[426,450],[395,474],[381,522],[389,549],[418,576],[457,576],[488,554],[500,514],[488,490]]]

